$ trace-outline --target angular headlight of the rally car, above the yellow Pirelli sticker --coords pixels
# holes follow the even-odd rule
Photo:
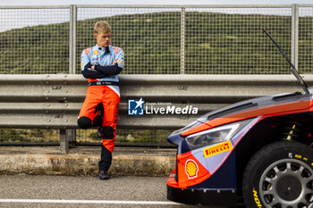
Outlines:
[[[251,120],[238,121],[213,129],[207,129],[186,137],[186,142],[188,146],[190,146],[190,149],[197,149],[202,146],[228,141],[250,121]]]

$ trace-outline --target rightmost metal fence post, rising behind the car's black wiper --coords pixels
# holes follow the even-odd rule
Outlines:
[[[298,69],[299,5],[292,4],[292,63]]]

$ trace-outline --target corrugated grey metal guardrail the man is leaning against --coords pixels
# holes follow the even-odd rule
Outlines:
[[[305,75],[309,86],[313,75]],[[257,96],[301,91],[292,75],[121,75],[119,129],[179,129],[206,112]],[[60,129],[60,149],[75,140],[86,95],[81,75],[1,75],[0,128]],[[128,100],[192,105],[198,114],[128,115]]]

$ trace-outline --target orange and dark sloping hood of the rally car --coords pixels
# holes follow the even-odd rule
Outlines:
[[[217,111],[208,112],[199,117],[196,121],[191,122],[186,127],[174,131],[172,135],[182,134],[182,136],[187,136],[204,129],[211,129],[234,121],[309,109],[311,105],[311,96],[311,94],[301,94],[300,92],[296,92],[262,96],[241,101]]]

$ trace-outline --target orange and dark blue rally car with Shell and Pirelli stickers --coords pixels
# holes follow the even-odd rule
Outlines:
[[[313,90],[266,35],[304,93],[243,101],[174,131],[167,138],[177,146],[169,200],[236,206],[243,198],[246,207],[313,207]]]

